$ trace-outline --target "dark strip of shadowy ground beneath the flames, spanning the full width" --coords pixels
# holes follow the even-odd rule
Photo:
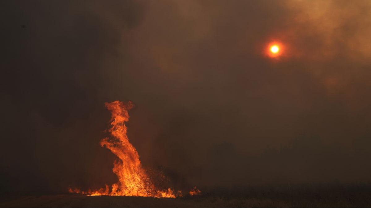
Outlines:
[[[214,189],[202,196],[177,199],[2,195],[0,207],[371,207],[371,188],[361,185]]]

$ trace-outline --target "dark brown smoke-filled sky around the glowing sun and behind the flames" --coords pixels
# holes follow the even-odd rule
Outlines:
[[[0,7],[2,192],[114,183],[114,100],[175,187],[371,181],[369,1]]]

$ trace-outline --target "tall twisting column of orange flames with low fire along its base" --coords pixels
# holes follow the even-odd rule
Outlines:
[[[142,167],[139,160],[139,154],[135,147],[129,142],[127,136],[127,127],[125,122],[129,121],[128,110],[134,107],[132,102],[123,103],[114,101],[105,103],[106,108],[111,111],[111,125],[109,132],[112,138],[104,138],[100,144],[114,153],[118,160],[114,161],[112,171],[117,175],[118,182],[106,185],[95,191],[81,191],[80,189],[71,189],[70,193],[85,194],[88,196],[111,195],[111,196],[137,196],[137,197],[155,197],[155,198],[175,198],[182,197],[182,192],[168,188],[166,190],[155,187],[148,172]],[[194,187],[190,195],[197,195],[201,191]]]

